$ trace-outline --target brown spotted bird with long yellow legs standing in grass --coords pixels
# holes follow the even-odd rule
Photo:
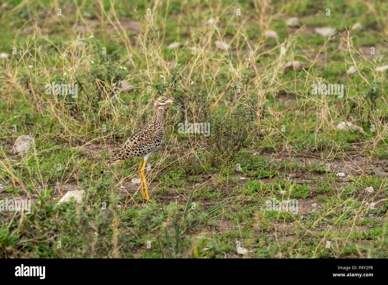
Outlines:
[[[143,189],[143,184],[146,191],[146,199],[148,198],[147,185],[145,183],[144,177],[144,166],[149,156],[159,147],[163,138],[163,114],[167,106],[171,104],[178,104],[173,102],[167,96],[160,96],[154,102],[154,116],[152,120],[145,124],[140,130],[135,131],[128,140],[124,143],[123,147],[119,149],[113,157],[107,162],[106,167],[102,169],[101,173],[104,173],[109,169],[113,164],[125,160],[130,157],[140,156],[144,160],[144,165],[140,160],[139,166],[139,175],[141,180],[141,185]],[[142,166],[142,167],[141,167]],[[142,171],[140,172],[140,169]],[[144,192],[143,192],[144,197]]]

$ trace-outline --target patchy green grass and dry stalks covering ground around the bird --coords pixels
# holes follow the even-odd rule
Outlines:
[[[388,83],[375,71],[387,64],[387,3],[6,3],[0,201],[32,205],[0,211],[0,257],[242,257],[236,246],[259,258],[388,256]],[[286,25],[294,16],[300,29]],[[364,28],[348,34],[356,22]],[[293,60],[304,67],[283,68]],[[360,73],[346,74],[353,65]],[[78,97],[47,94],[53,81],[77,84]],[[319,82],[343,84],[344,96],[314,94]],[[145,173],[155,202],[144,204],[131,182],[139,158],[100,170],[159,95],[182,106],[166,111]],[[185,121],[210,133],[181,133]],[[15,154],[21,135],[33,143]],[[58,203],[81,189],[80,204]],[[272,199],[299,212],[268,211]]]

